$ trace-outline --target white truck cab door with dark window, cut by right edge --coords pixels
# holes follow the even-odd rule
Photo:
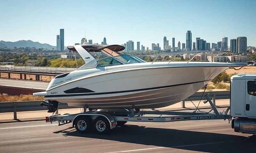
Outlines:
[[[245,91],[245,114],[256,117],[256,80],[248,80]]]

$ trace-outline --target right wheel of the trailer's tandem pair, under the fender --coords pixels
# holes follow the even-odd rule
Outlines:
[[[97,117],[94,120],[94,129],[98,134],[105,134],[110,131],[109,121],[102,116]]]

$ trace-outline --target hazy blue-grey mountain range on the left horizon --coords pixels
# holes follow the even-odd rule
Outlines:
[[[0,47],[8,47],[8,48],[13,48],[13,47],[36,47],[36,48],[47,48],[47,49],[56,49],[56,46],[52,46],[49,44],[41,44],[39,42],[34,42],[31,40],[19,40],[15,42],[11,41],[0,41]]]

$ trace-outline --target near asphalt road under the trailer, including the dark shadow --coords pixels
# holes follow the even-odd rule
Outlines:
[[[223,109],[223,108],[222,108]],[[80,134],[45,121],[0,124],[0,152],[254,152],[256,136],[235,133],[228,120],[127,122],[108,135]]]

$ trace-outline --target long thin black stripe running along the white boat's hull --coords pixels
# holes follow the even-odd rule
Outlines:
[[[153,87],[153,88],[135,89],[135,90],[112,91],[112,92],[99,92],[99,93],[67,94],[67,95],[49,95],[49,96],[44,96],[44,97],[45,97],[45,98],[49,98],[49,97],[70,97],[70,96],[105,95],[105,94],[113,94],[113,93],[124,93],[124,92],[154,90],[154,89],[175,87],[175,86],[180,86],[180,85],[195,84],[195,83],[200,83],[200,82],[205,82],[205,81],[211,81],[211,80],[204,80],[204,81],[198,81],[198,82],[190,82],[190,83],[185,83],[185,84],[174,84],[174,85],[167,85],[167,86],[160,86],[160,87]]]

